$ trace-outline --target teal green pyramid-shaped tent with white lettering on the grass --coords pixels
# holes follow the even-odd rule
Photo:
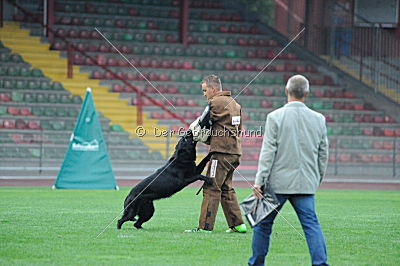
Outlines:
[[[53,188],[118,189],[90,88]]]

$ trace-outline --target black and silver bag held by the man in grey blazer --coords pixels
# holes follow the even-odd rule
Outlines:
[[[278,198],[268,186],[262,188],[263,199],[257,199],[253,194],[240,203],[244,216],[251,227],[256,226],[279,206]]]

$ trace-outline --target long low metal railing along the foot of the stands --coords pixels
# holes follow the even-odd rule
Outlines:
[[[173,131],[172,127],[168,132],[174,134],[165,134],[152,141],[166,144],[157,151],[149,151],[140,139],[130,139],[126,133],[103,131],[103,138],[113,166],[120,171],[129,172],[131,176],[136,176],[137,173],[143,172],[143,169],[151,172],[155,165],[164,164],[165,158],[161,153],[166,154],[167,158],[172,155],[179,134]],[[70,134],[70,131],[2,130],[1,172],[5,169],[24,168],[40,176],[43,171],[51,169],[54,174],[63,161]],[[254,177],[258,156],[249,155],[257,155],[260,152],[262,137],[242,138],[242,142],[243,155],[239,171],[248,177]],[[397,180],[400,176],[399,137],[330,136],[329,143],[328,174],[331,177]],[[197,145],[198,154],[207,152],[208,146],[201,143]]]

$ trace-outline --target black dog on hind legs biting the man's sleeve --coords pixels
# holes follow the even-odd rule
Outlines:
[[[213,178],[201,174],[208,160],[196,166],[196,144],[191,131],[188,131],[179,140],[168,162],[132,188],[125,199],[124,214],[118,220],[118,229],[126,221],[136,221],[136,215],[139,219],[134,226],[142,228],[142,224],[154,214],[154,200],[170,197],[197,180],[212,184]]]

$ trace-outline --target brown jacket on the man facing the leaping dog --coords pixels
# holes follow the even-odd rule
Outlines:
[[[217,92],[208,100],[212,121],[210,152],[242,154],[239,131],[242,130],[241,106],[230,91]]]

